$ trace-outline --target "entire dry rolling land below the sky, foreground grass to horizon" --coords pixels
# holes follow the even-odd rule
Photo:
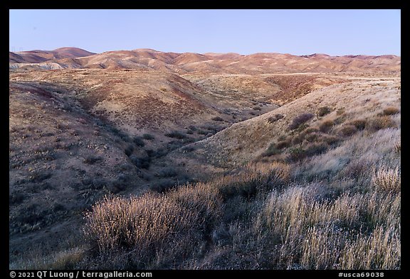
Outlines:
[[[401,58],[9,57],[10,268],[401,268]]]

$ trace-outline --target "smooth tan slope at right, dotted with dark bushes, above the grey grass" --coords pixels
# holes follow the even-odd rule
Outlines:
[[[315,146],[316,141],[343,140],[345,126],[359,120],[371,124],[389,106],[400,107],[399,79],[386,78],[381,81],[350,77],[349,82],[317,89],[278,109],[233,124],[204,141],[192,143],[189,147],[194,151],[189,157],[194,158],[195,163],[211,163],[220,168],[233,168],[262,158],[283,160],[295,147],[319,148]],[[327,114],[318,116],[323,109],[328,110]],[[312,118],[303,126],[290,130],[293,119],[303,114],[312,114]],[[329,131],[323,127],[327,123],[330,125]],[[280,147],[275,148],[278,145]],[[327,149],[328,146],[322,148]],[[263,155],[267,150],[276,154]],[[177,156],[186,158],[186,154]],[[197,166],[192,168],[197,174]]]

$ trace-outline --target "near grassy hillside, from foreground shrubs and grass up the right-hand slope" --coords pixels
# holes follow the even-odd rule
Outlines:
[[[350,77],[169,153],[203,181],[107,195],[11,267],[399,269],[400,90]]]

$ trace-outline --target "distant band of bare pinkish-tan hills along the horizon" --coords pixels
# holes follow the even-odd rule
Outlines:
[[[80,48],[9,52],[9,67],[22,70],[73,68],[153,69],[184,74],[189,72],[263,74],[278,72],[399,72],[396,55],[280,53],[164,53],[152,49],[90,53]]]

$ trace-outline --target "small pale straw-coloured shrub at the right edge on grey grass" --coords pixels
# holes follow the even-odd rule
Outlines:
[[[377,190],[400,192],[401,173],[399,168],[382,167],[379,170],[373,170],[372,181]]]

